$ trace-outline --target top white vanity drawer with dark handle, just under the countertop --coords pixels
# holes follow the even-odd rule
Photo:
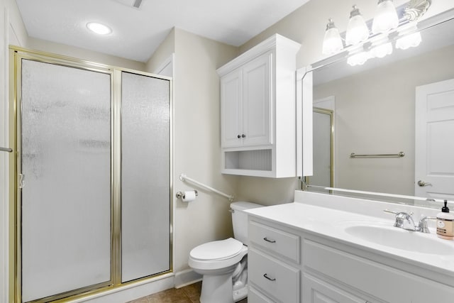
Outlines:
[[[299,263],[299,236],[255,221],[249,221],[248,233],[253,245]]]

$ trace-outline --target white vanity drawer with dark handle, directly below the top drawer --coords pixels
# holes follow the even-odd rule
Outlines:
[[[251,248],[248,252],[250,285],[278,302],[299,302],[299,269]]]

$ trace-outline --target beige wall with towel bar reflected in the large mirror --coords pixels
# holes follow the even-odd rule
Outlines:
[[[393,55],[401,60],[385,57],[362,67],[350,67],[342,60],[314,71],[314,99],[336,97],[336,187],[414,195],[415,90],[454,78],[454,21],[422,34],[418,50],[394,50]],[[429,37],[442,38],[443,45],[439,47]],[[427,46],[431,50],[423,53]],[[345,69],[349,75],[333,77]],[[314,146],[316,140],[314,136]],[[350,158],[350,153],[400,151],[404,158]]]

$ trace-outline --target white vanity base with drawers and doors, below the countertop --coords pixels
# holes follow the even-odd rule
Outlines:
[[[248,228],[250,303],[454,302],[438,270],[257,216]]]

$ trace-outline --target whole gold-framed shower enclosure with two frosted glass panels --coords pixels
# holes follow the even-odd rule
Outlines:
[[[20,48],[10,55],[16,301],[170,272],[172,80]]]

